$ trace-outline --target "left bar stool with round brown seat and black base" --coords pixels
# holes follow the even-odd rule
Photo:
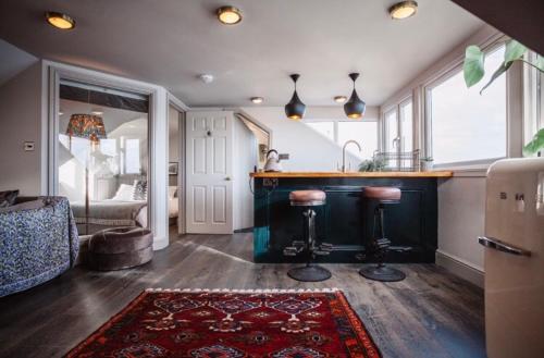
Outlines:
[[[318,282],[331,277],[331,272],[325,268],[313,264],[318,255],[329,255],[333,246],[331,244],[318,244],[316,237],[316,211],[313,207],[325,205],[326,195],[321,190],[295,190],[289,193],[292,207],[304,208],[304,240],[294,240],[283,250],[285,256],[306,255],[306,266],[290,269],[287,275],[293,280],[301,282]]]

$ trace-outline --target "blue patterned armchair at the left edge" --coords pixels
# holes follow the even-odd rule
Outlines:
[[[58,276],[75,264],[78,250],[66,198],[18,198],[0,209],[0,297]]]

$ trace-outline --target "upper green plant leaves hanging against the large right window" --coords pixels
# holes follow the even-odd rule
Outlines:
[[[480,90],[480,95],[495,79],[497,79],[502,74],[508,71],[508,69],[510,69],[515,61],[524,62],[537,69],[540,72],[544,72],[544,58],[542,55],[537,55],[534,62],[527,61],[523,59],[523,55],[527,51],[528,48],[516,40],[506,41],[505,60],[503,61],[503,63],[500,63],[498,69],[495,70],[487,84]],[[474,86],[483,78],[483,76],[485,75],[484,62],[485,53],[480,49],[480,47],[475,45],[467,47],[467,49],[465,50],[465,63],[462,65],[465,83],[467,84],[467,87],[470,88]]]

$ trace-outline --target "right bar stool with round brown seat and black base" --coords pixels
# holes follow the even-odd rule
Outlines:
[[[400,201],[400,189],[396,187],[369,186],[364,188],[363,196],[367,200],[378,201],[374,209],[374,223],[372,227],[372,242],[367,245],[367,251],[378,259],[378,264],[368,264],[359,271],[359,274],[374,281],[396,282],[406,279],[406,274],[397,269],[384,264],[385,257],[390,250],[391,242],[385,237],[383,227],[383,211],[385,205],[394,205]],[[378,226],[378,237],[375,235]]]

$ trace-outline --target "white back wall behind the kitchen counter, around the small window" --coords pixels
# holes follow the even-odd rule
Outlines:
[[[242,110],[272,131],[271,148],[289,155],[289,160],[282,162],[284,171],[336,171],[337,165],[342,165],[342,147],[305,123],[287,119],[283,107],[246,107]],[[346,114],[342,107],[310,107],[306,118],[334,120],[346,119]],[[378,119],[378,108],[367,108],[366,119]],[[346,165],[348,161],[353,170],[361,162],[347,152]]]

